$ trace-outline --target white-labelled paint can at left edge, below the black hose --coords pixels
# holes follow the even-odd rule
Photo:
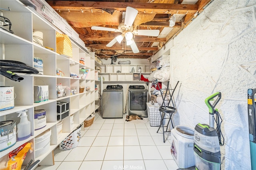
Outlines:
[[[14,87],[0,86],[0,111],[14,108]]]

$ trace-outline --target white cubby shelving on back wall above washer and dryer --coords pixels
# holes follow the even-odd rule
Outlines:
[[[104,78],[104,82],[138,82],[140,80],[134,80],[133,74],[149,76],[151,73],[149,66],[150,64],[98,64],[97,67],[101,68],[98,75]],[[134,72],[132,72],[132,68],[134,68]],[[139,68],[140,72],[138,72]]]

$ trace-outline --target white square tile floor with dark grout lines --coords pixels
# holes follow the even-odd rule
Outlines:
[[[162,133],[156,133],[158,127],[151,127],[149,122],[102,119],[98,113],[94,123],[81,132],[78,147],[55,149],[54,166],[39,166],[36,170],[178,169],[170,153],[170,141],[163,142]]]

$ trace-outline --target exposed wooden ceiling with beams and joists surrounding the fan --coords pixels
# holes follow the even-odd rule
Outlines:
[[[202,12],[211,0],[98,0],[68,1],[46,0],[50,6],[79,34],[85,46],[100,58],[147,59],[160,50]],[[158,29],[158,37],[134,36],[139,53],[133,53],[125,39],[112,47],[106,45],[122,33],[92,30],[92,26],[118,29],[123,12],[130,6],[138,10],[133,23],[136,29]],[[125,14],[125,13],[124,13]],[[169,20],[176,14],[176,23],[169,27]]]

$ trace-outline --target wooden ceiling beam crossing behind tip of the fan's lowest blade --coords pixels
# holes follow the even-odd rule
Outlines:
[[[106,47],[107,44],[88,44],[86,47],[103,50],[132,50],[130,46],[122,47],[120,44],[114,44],[112,47]],[[158,47],[138,47],[140,51],[157,51]]]

